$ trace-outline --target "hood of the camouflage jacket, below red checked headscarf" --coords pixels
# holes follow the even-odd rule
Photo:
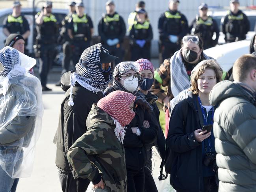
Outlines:
[[[92,109],[86,119],[86,127],[90,129],[91,127],[107,123],[110,127],[116,127],[114,125],[114,120],[105,111],[99,108],[95,103],[92,105]]]

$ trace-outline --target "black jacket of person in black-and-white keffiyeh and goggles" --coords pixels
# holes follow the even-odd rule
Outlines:
[[[67,151],[86,132],[86,118],[92,104],[104,97],[102,92],[93,93],[77,83],[72,91],[74,105],[69,106],[70,74],[70,71],[65,73],[61,79],[62,89],[66,94],[61,104],[58,128],[53,140],[57,147],[55,163],[59,171],[64,174],[71,173]]]

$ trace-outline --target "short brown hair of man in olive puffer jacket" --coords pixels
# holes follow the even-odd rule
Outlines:
[[[252,70],[256,70],[256,56],[252,54],[245,54],[239,57],[233,66],[233,78],[235,81],[244,81],[247,78],[248,73]]]

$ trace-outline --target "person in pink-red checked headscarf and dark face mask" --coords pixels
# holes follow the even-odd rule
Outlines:
[[[142,76],[143,83],[139,87],[139,91],[141,91],[146,101],[153,107],[153,112],[155,118],[157,119],[157,140],[152,144],[146,145],[146,165],[144,166],[145,172],[145,191],[146,192],[157,192],[157,186],[155,185],[155,181],[152,177],[152,147],[155,145],[157,151],[159,152],[161,158],[164,158],[165,155],[165,138],[163,134],[163,130],[161,128],[159,122],[160,112],[155,103],[157,101],[157,96],[150,93],[149,89],[151,88],[154,81],[154,67],[153,64],[147,59],[139,59],[136,61],[139,65],[139,73]]]

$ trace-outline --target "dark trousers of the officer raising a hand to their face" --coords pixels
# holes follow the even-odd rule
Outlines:
[[[39,58],[39,76],[41,85],[46,86],[47,76],[54,60],[55,44],[41,44]]]

